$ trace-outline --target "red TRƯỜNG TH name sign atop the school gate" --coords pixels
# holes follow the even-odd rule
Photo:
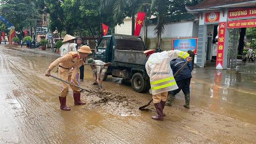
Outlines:
[[[229,19],[256,17],[256,7],[247,9],[233,9],[228,11]]]

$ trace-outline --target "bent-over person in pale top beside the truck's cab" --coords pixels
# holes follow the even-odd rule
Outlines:
[[[91,69],[92,69],[92,74],[93,74],[93,78],[94,78],[94,83],[93,85],[99,85],[100,89],[102,90],[102,82],[103,79],[105,77],[105,74],[108,70],[108,67],[104,66],[106,63],[101,61],[101,60],[94,60],[92,58],[88,59],[87,61],[91,65]],[[101,65],[101,66],[100,66]]]

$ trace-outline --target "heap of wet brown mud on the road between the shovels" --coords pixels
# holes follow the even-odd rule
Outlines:
[[[91,108],[102,108],[107,113],[119,116],[138,116],[140,111],[136,106],[135,100],[127,97],[125,92],[103,91],[98,89],[90,90],[85,94]]]

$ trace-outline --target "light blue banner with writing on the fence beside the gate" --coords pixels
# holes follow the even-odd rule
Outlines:
[[[173,50],[194,51],[197,50],[197,38],[173,39]]]

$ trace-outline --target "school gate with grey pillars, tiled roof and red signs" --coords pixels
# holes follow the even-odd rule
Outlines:
[[[236,68],[239,32],[256,27],[256,1],[203,1],[188,12],[199,15],[197,66]],[[254,6],[254,7],[253,7]]]

